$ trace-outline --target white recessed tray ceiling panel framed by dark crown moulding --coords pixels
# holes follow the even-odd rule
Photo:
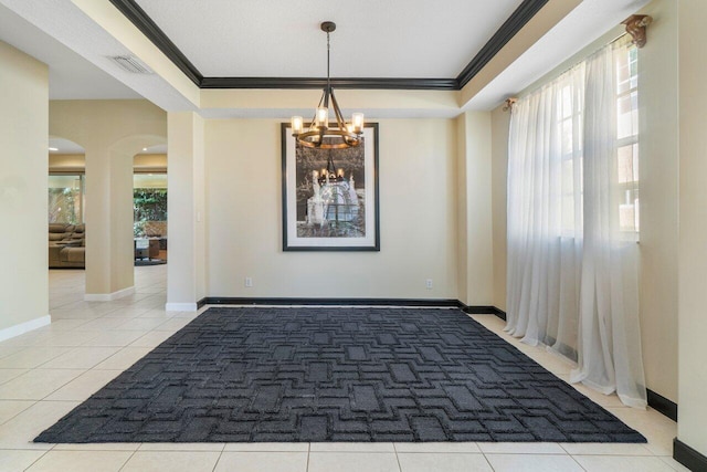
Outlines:
[[[521,0],[137,0],[209,77],[456,77]]]

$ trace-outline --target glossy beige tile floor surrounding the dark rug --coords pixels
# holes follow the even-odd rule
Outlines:
[[[165,312],[166,265],[136,268],[136,293],[84,302],[84,271],[50,271],[52,324],[0,343],[0,472],[8,471],[683,471],[672,458],[676,423],[577,387],[641,431],[647,444],[199,443],[34,444],[32,439],[197,314]],[[550,371],[570,366],[475,319]]]

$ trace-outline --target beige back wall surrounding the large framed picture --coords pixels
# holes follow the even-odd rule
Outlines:
[[[455,122],[379,123],[381,251],[336,253],[282,250],[279,122],[207,122],[209,295],[457,298]]]

